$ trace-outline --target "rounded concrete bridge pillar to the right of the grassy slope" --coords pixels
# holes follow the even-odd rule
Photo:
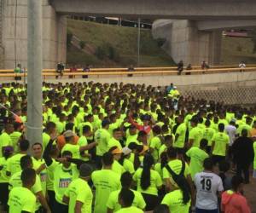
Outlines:
[[[163,49],[175,62],[210,65],[220,62],[221,32],[199,31],[193,20],[159,20],[153,26],[153,36],[166,38]]]

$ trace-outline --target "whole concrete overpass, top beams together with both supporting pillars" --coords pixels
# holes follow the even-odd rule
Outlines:
[[[254,0],[41,1],[44,68],[66,61],[67,14],[172,19],[156,21],[154,37],[167,38],[165,49],[175,61],[195,65],[201,60],[218,64],[221,34],[216,30],[256,21]],[[0,68],[13,68],[15,61],[26,67],[27,0],[15,2],[0,0]]]

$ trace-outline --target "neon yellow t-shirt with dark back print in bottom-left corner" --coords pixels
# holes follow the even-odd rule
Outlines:
[[[15,187],[9,193],[9,213],[36,211],[36,196],[26,187]]]

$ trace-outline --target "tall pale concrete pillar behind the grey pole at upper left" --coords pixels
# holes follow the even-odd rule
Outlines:
[[[12,69],[15,60],[27,67],[27,0],[18,0],[15,24],[15,0],[3,2],[2,67]],[[43,0],[43,66],[55,67],[58,61],[66,61],[67,23],[65,16],[55,13],[47,0]],[[16,33],[15,33],[16,32]],[[15,36],[16,34],[16,36]]]

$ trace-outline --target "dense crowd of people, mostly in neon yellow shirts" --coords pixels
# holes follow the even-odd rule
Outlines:
[[[43,83],[43,141],[26,86],[0,92],[1,212],[250,213],[256,108],[171,84]]]

